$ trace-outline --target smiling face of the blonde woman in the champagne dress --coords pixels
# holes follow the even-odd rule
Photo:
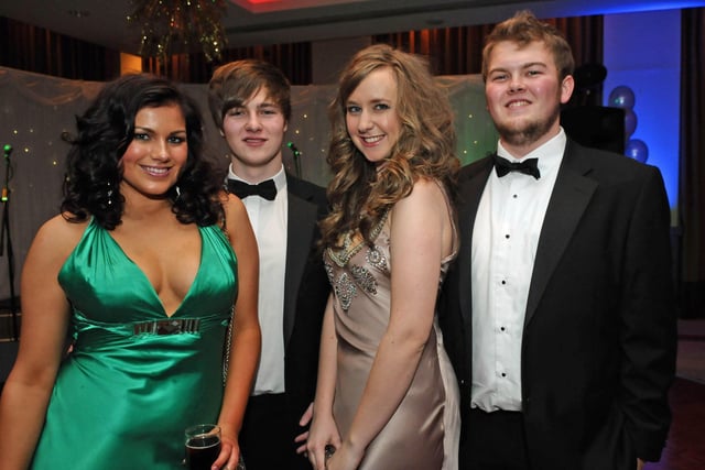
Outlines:
[[[401,134],[397,79],[389,67],[370,73],[345,103],[345,121],[355,146],[376,164],[390,156]]]

